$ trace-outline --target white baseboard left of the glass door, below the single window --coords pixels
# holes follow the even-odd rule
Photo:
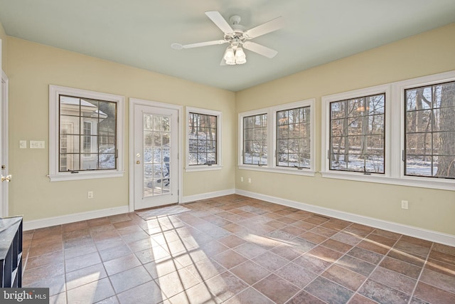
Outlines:
[[[33,221],[23,222],[23,231],[40,229],[55,225],[73,223],[75,221],[87,221],[88,219],[97,219],[105,216],[124,214],[129,212],[128,206],[120,206],[109,209],[81,212],[77,214],[68,214],[64,216],[48,217],[46,219],[36,219]]]

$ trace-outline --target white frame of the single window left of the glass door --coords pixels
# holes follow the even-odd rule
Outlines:
[[[77,173],[59,172],[58,163],[58,132],[60,125],[60,95],[80,98],[91,98],[117,103],[117,169],[80,171]],[[100,93],[58,85],[49,85],[49,174],[50,182],[70,181],[79,179],[100,179],[107,177],[123,177],[124,175],[124,97],[108,93]]]

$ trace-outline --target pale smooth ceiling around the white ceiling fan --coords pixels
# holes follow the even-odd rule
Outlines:
[[[253,41],[244,65],[220,66],[226,45],[205,16],[220,11],[246,29],[283,16],[286,26]],[[454,0],[0,0],[7,35],[217,88],[238,91],[455,22]],[[437,47],[437,46],[435,46]]]

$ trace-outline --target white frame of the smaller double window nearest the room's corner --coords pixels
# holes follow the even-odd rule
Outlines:
[[[315,138],[316,138],[316,121],[315,121],[315,103],[314,98],[301,100],[294,103],[286,103],[269,108],[251,110],[239,113],[239,150],[238,150],[238,168],[246,170],[255,170],[262,172],[277,172],[284,174],[305,175],[314,177],[315,172]],[[310,167],[282,167],[277,166],[277,112],[291,110],[295,108],[310,107]],[[267,114],[267,165],[243,163],[243,118],[253,115]]]

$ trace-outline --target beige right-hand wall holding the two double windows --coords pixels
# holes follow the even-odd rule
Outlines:
[[[236,94],[237,113],[316,98],[316,170],[321,96],[455,70],[455,23]],[[236,169],[236,189],[455,235],[455,191],[297,177]],[[252,178],[252,183],[240,182]],[[401,200],[410,209],[401,209]]]

